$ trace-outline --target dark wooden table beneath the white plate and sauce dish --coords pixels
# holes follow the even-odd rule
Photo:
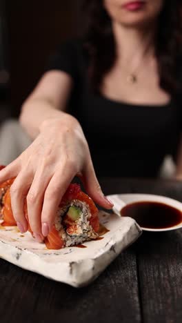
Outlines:
[[[182,183],[102,179],[106,194],[153,193],[182,201]],[[143,233],[86,288],[0,260],[1,322],[182,322],[182,230]]]

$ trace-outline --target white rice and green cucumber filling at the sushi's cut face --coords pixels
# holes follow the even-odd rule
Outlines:
[[[90,217],[88,205],[77,199],[72,200],[64,208],[57,211],[55,228],[59,231],[65,246],[82,244],[84,241],[98,237],[90,225]]]

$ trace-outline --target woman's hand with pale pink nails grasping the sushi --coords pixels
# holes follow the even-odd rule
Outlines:
[[[10,188],[14,219],[20,231],[28,230],[23,213],[25,199],[30,227],[41,242],[52,228],[61,198],[75,175],[95,202],[104,208],[112,204],[104,197],[94,173],[87,141],[77,119],[43,121],[32,144],[0,171],[0,183],[16,177]]]

